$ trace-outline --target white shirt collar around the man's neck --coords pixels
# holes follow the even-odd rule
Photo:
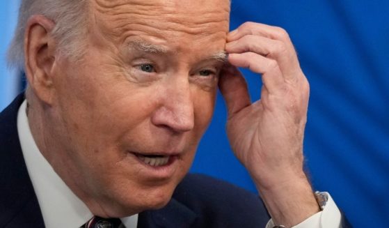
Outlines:
[[[54,172],[49,162],[35,144],[26,115],[26,100],[17,114],[17,132],[26,167],[38,197],[46,227],[81,227],[93,214],[63,180]],[[121,218],[127,228],[136,227],[138,215]]]

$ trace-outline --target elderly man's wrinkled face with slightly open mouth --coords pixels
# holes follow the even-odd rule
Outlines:
[[[230,2],[91,2],[84,61],[54,67],[63,165],[106,215],[164,206],[212,117]]]

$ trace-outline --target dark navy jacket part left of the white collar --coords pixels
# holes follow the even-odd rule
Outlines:
[[[7,228],[45,227],[17,134],[23,100],[20,94],[0,114],[0,224]]]

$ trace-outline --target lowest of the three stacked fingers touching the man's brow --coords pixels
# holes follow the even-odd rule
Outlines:
[[[270,93],[283,89],[285,80],[276,60],[253,52],[244,52],[229,54],[228,61],[233,66],[249,68],[254,73],[262,74],[262,82]]]

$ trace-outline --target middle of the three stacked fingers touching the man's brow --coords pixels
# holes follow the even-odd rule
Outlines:
[[[227,43],[225,50],[228,53],[255,52],[275,59],[285,77],[300,77],[299,61],[295,52],[289,52],[285,43],[280,40],[271,40],[263,36],[246,35],[239,40]]]

